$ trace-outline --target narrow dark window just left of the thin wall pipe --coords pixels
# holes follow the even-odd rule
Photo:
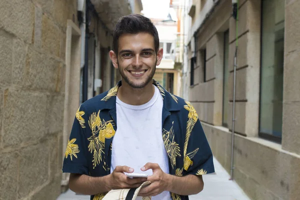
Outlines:
[[[222,125],[228,127],[227,117],[228,117],[228,77],[229,77],[229,67],[228,67],[228,52],[229,52],[229,31],[224,32],[224,60],[223,60],[223,115],[222,115]]]

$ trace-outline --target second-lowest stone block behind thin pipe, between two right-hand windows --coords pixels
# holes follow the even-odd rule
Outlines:
[[[247,67],[236,70],[235,74],[235,100],[246,100],[246,76]],[[228,78],[228,97],[233,100],[233,71],[229,73]]]

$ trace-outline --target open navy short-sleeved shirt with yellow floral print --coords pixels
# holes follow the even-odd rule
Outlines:
[[[163,97],[161,136],[168,154],[169,173],[177,176],[214,172],[212,152],[190,102],[167,92],[153,80]],[[110,173],[111,144],[116,131],[116,93],[109,91],[83,102],[73,122],[65,150],[63,172],[90,176]],[[102,199],[106,193],[91,195]],[[188,196],[171,193],[173,200]]]

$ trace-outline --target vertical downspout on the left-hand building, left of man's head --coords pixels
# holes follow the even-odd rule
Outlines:
[[[88,80],[88,37],[89,37],[89,30],[88,30],[88,11],[89,11],[89,3],[88,0],[85,1],[85,52],[84,52],[84,67],[83,67],[83,83],[82,83],[82,102],[87,100],[87,80]]]

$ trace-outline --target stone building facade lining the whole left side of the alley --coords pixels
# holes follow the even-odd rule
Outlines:
[[[0,199],[56,199],[67,186],[62,159],[82,90],[90,98],[115,81],[112,29],[142,9],[140,0],[118,2],[0,1]],[[96,38],[92,50],[85,38]],[[93,70],[83,89],[84,67]]]

